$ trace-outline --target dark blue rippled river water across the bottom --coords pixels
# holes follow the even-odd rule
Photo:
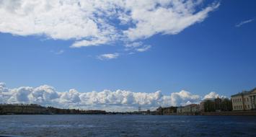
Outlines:
[[[256,136],[256,117],[155,115],[0,115],[12,136]]]

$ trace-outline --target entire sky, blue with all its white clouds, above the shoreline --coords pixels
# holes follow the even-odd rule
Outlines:
[[[253,89],[255,6],[0,0],[0,103],[125,111]]]

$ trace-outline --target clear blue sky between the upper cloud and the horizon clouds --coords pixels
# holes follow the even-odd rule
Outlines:
[[[86,34],[79,40],[96,42],[75,48],[71,45],[81,42],[76,35],[59,37],[48,34],[49,31],[23,32],[27,28],[21,24],[0,19],[0,81],[11,88],[48,84],[60,92],[72,88],[79,92],[161,90],[162,94],[186,90],[200,96],[217,92],[229,97],[256,87],[255,6],[256,1],[252,0],[201,1],[195,6],[196,12],[212,9],[206,17],[182,26],[182,30],[175,32],[168,30],[169,27],[157,30],[154,27],[159,26],[155,25],[149,28],[156,29],[152,34],[142,32],[141,36],[134,32],[125,35],[128,38],[114,35],[115,32],[108,34],[111,29],[102,30],[111,36],[99,38]],[[4,6],[0,9],[7,10]],[[138,25],[131,23],[134,20],[120,25],[115,17],[107,21],[117,32]],[[105,17],[99,15],[99,18]],[[168,25],[171,19],[163,20],[162,25]],[[17,28],[12,25],[21,27],[14,31]],[[105,37],[110,40],[106,42]],[[138,47],[129,47],[133,43]]]

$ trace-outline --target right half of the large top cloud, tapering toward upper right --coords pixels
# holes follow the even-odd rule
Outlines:
[[[197,22],[202,22],[213,11],[219,3],[195,12],[197,2],[193,1],[128,1],[131,8],[131,18],[136,22],[136,27],[130,27],[124,31],[130,40],[138,40],[162,33],[175,35],[186,27]],[[157,5],[160,6],[157,6]]]

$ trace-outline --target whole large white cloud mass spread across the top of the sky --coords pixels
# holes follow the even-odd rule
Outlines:
[[[127,49],[153,35],[175,35],[203,22],[219,5],[203,7],[203,0],[0,0],[0,32],[74,40],[73,48],[121,41]],[[149,48],[130,47],[135,52]]]

